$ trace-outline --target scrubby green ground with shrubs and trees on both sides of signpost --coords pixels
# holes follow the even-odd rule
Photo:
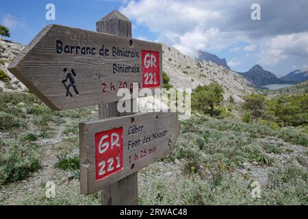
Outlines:
[[[172,87],[166,73],[163,82]],[[245,103],[223,94],[215,82],[194,90],[175,150],[138,172],[140,205],[308,205],[307,94]],[[79,191],[78,124],[96,112],[52,112],[34,94],[0,92],[0,204],[99,205],[98,193]],[[50,179],[55,198],[45,196]]]

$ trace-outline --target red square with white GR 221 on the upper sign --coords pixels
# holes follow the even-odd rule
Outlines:
[[[142,50],[142,88],[160,87],[159,52]]]

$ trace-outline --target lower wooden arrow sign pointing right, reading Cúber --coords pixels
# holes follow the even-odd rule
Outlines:
[[[81,123],[81,192],[97,192],[168,155],[180,129],[172,112]]]

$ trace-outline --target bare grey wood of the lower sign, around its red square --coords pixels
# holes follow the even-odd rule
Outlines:
[[[112,175],[97,180],[95,164],[95,134],[102,131],[123,127],[123,169]],[[137,127],[139,131],[131,133],[131,128]],[[140,127],[142,127],[140,129]],[[106,118],[79,125],[80,144],[80,181],[81,192],[92,194],[107,185],[119,181],[133,172],[156,162],[168,155],[175,148],[175,142],[180,133],[180,125],[176,113],[150,113],[121,116],[118,118]],[[154,138],[153,136],[159,136]],[[149,142],[144,142],[150,137]],[[140,140],[140,141],[139,141]],[[131,142],[140,142],[131,146]],[[142,157],[142,153],[146,155]],[[135,157],[138,157],[136,160]]]

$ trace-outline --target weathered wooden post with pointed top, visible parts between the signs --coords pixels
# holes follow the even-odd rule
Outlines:
[[[114,10],[97,22],[97,31],[131,38],[131,22]],[[120,116],[118,102],[99,104],[99,118]],[[138,205],[138,172],[107,186],[101,192],[102,205]]]

